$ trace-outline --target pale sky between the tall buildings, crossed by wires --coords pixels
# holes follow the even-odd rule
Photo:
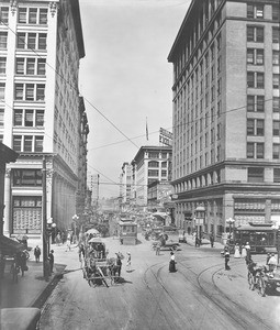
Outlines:
[[[120,195],[120,174],[143,145],[159,145],[172,127],[172,64],[167,56],[190,0],[80,0],[86,56],[88,184],[100,175],[99,196]],[[146,139],[146,124],[148,140]]]

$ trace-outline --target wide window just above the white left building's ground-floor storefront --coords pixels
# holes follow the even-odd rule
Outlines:
[[[13,186],[42,186],[42,170],[13,169]]]

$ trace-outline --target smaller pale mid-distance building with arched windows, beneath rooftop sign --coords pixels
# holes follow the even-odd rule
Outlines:
[[[135,205],[147,206],[149,184],[170,179],[171,157],[171,146],[142,146],[139,148],[132,161]]]

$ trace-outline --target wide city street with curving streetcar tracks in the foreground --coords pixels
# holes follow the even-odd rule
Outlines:
[[[139,235],[136,246],[104,239],[114,256],[132,254],[132,272],[123,283],[90,287],[79,270],[77,248],[55,246],[66,274],[46,301],[41,329],[279,329],[280,290],[260,297],[247,284],[244,260],[231,258],[224,271],[221,249],[181,244],[177,273],[169,273],[169,252],[156,255]],[[265,263],[266,255],[254,256]],[[72,271],[72,272],[71,272]]]

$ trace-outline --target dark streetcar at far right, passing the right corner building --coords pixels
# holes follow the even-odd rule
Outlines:
[[[250,251],[265,253],[277,246],[277,231],[271,223],[243,224],[234,229],[234,244],[250,245]]]

